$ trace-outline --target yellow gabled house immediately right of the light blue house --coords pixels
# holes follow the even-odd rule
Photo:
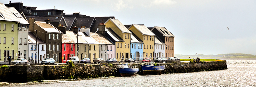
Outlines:
[[[144,25],[133,24],[129,30],[144,42],[143,57],[152,58],[154,56],[155,34]]]

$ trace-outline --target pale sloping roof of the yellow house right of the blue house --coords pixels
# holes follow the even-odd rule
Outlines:
[[[140,31],[140,33],[142,34],[142,35],[151,35],[151,36],[155,36],[155,34],[153,33],[153,32],[151,32],[149,29],[148,29],[148,27],[146,27],[145,25],[135,25],[135,24],[133,24],[132,26],[134,26],[138,31]],[[131,27],[132,27],[131,26]],[[130,28],[131,28],[130,27]],[[130,29],[129,28],[129,29]]]

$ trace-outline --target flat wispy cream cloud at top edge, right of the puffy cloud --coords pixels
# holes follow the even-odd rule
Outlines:
[[[148,5],[142,4],[143,7],[151,7],[151,6],[163,6],[163,5],[173,5],[176,4],[176,1],[172,0],[153,0]]]

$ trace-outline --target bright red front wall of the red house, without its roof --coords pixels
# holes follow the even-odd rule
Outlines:
[[[64,46],[66,47],[66,50],[64,49]],[[71,49],[71,46],[73,48]],[[75,56],[76,54],[76,45],[72,43],[62,43],[62,63],[66,63],[66,60],[68,60],[69,57]],[[65,58],[64,58],[65,55]],[[80,58],[79,58],[80,59]]]

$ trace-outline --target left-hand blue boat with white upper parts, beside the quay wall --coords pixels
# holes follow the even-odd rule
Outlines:
[[[116,66],[121,76],[136,76],[136,73],[139,72],[137,66],[128,66],[127,63]]]

